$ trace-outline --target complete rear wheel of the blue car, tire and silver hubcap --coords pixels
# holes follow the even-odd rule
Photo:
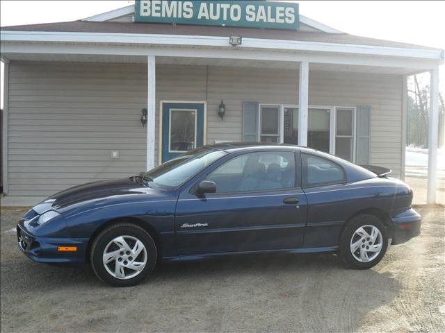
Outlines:
[[[387,248],[387,228],[375,216],[355,216],[341,232],[340,258],[351,268],[368,269],[375,266],[382,260]]]

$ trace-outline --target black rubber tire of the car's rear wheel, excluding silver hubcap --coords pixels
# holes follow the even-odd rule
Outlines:
[[[355,231],[364,225],[373,225],[380,231],[382,235],[382,248],[380,253],[369,262],[360,262],[353,255],[353,251],[350,249],[351,240]],[[366,244],[364,244],[366,246]],[[385,256],[388,248],[388,232],[385,224],[377,217],[368,214],[360,214],[348,221],[348,224],[343,229],[339,239],[339,256],[343,264],[350,268],[355,269],[368,269],[380,262]],[[358,250],[359,251],[359,250]]]

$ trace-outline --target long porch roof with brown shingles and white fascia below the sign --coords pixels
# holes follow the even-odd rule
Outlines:
[[[327,31],[84,19],[2,27],[1,60],[146,62],[156,56],[157,63],[279,68],[307,61],[312,70],[407,75],[435,69],[445,58],[440,49]],[[232,35],[243,37],[242,44],[229,44]]]

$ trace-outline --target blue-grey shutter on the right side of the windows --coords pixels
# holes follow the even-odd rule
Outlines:
[[[371,107],[357,106],[357,146],[355,164],[369,164],[369,146],[371,141]]]

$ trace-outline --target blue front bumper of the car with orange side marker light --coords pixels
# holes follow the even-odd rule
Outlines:
[[[86,262],[88,239],[36,237],[22,222],[17,224],[19,249],[35,262],[82,266]],[[59,247],[76,247],[75,251],[60,251]]]

